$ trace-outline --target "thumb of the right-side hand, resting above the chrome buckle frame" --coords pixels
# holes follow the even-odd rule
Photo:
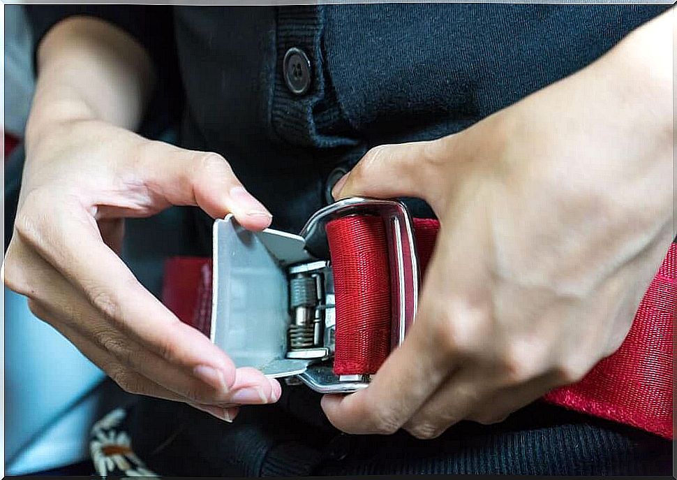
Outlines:
[[[442,155],[440,140],[373,147],[336,182],[332,195],[336,200],[348,196],[428,200],[437,183],[434,170],[444,163]]]

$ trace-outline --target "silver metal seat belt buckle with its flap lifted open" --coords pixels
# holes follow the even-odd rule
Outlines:
[[[350,197],[308,219],[299,235],[247,231],[229,214],[214,222],[210,337],[237,367],[253,367],[320,393],[350,393],[366,374],[336,375],[334,274],[325,228],[348,215],[381,217],[391,289],[391,351],[414,319],[419,291],[413,222],[395,200]]]

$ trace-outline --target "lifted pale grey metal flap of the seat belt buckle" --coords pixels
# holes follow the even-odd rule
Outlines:
[[[303,245],[298,235],[247,231],[230,214],[214,222],[211,340],[235,365],[262,369],[285,356],[288,283],[269,248],[304,258]]]

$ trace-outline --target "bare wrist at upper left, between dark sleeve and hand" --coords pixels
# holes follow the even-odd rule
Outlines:
[[[37,57],[27,143],[77,120],[138,128],[155,73],[147,52],[125,31],[94,17],[70,17],[47,32]]]

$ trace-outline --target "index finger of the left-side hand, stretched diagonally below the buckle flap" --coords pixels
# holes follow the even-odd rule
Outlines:
[[[198,330],[181,323],[144,289],[103,244],[87,212],[49,205],[43,205],[43,211],[52,217],[43,224],[58,228],[38,228],[34,220],[22,219],[22,237],[80,289],[103,317],[169,363],[207,383],[220,384],[223,390],[232,386],[235,365],[230,358]]]

